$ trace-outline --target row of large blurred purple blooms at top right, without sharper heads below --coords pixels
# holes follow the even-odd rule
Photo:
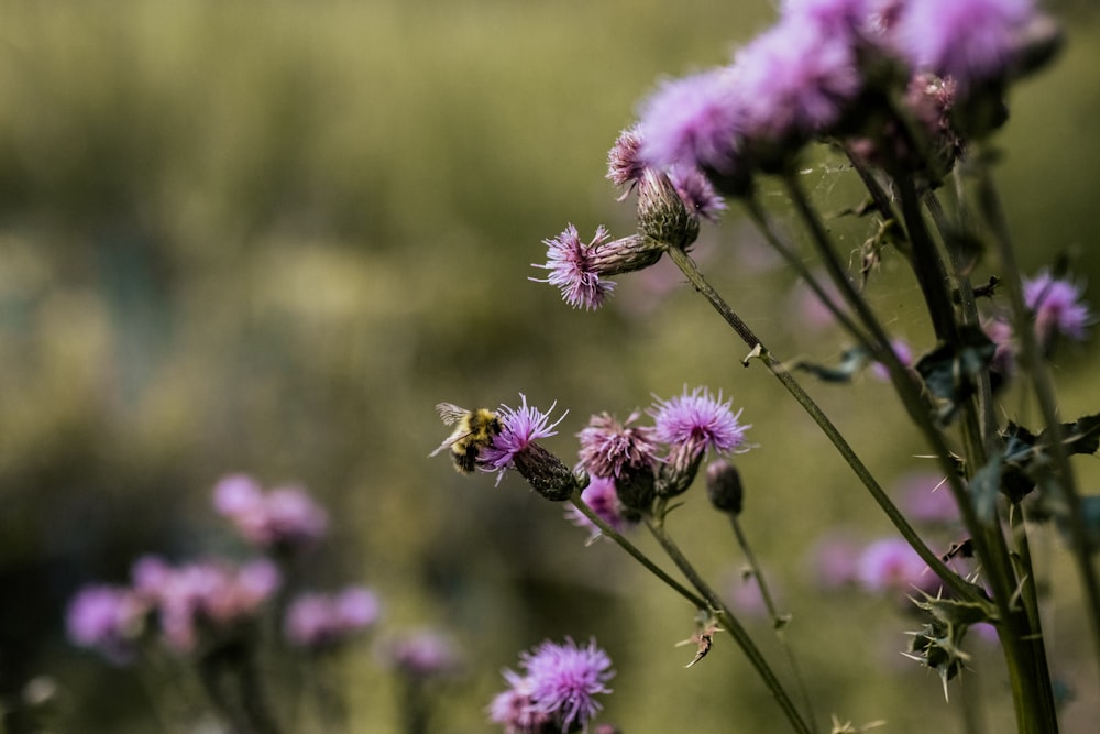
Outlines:
[[[661,169],[702,168],[718,184],[773,171],[813,138],[893,117],[887,95],[909,79],[922,89],[943,80],[958,102],[1030,70],[1056,43],[1030,0],[791,0],[730,65],[658,89],[635,133],[639,155]],[[920,108],[908,113],[928,121]]]

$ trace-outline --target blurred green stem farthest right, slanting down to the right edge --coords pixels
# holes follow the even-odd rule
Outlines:
[[[1081,578],[1085,598],[1091,612],[1087,616],[1092,625],[1093,651],[1097,660],[1100,661],[1100,582],[1097,580],[1096,567],[1088,549],[1088,528],[1085,526],[1085,518],[1081,513],[1081,499],[1077,490],[1074,469],[1063,442],[1065,437],[1063,436],[1062,423],[1058,417],[1057,401],[1054,395],[1050,376],[1043,362],[1043,354],[1038,348],[1035,332],[1026,318],[1028,311],[1024,303],[1020,266],[1016,263],[1015,251],[1012,247],[1012,240],[1009,237],[1009,228],[1004,220],[1004,211],[1001,208],[1000,197],[997,194],[992,177],[986,167],[979,166],[978,171],[979,202],[992,228],[1001,266],[1004,269],[1003,275],[1005,285],[1008,286],[1009,300],[1012,304],[1012,313],[1016,317],[1013,329],[1020,338],[1022,363],[1031,374],[1031,383],[1035,391],[1035,397],[1038,401],[1040,408],[1043,412],[1043,419],[1049,431],[1049,448],[1059,478],[1058,485],[1063,494],[1062,500],[1067,505],[1066,519],[1069,524],[1070,546],[1072,547],[1078,574]]]

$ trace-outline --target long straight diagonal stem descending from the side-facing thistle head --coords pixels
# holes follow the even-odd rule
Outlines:
[[[787,391],[794,397],[795,402],[802,406],[802,408],[810,414],[817,427],[821,428],[825,437],[833,443],[837,452],[845,460],[845,462],[851,468],[853,472],[859,479],[859,481],[867,487],[871,493],[871,497],[878,503],[879,507],[887,515],[894,527],[903,538],[913,547],[913,549],[921,556],[925,563],[938,576],[944,583],[946,583],[952,591],[954,591],[960,599],[968,601],[980,601],[978,593],[975,589],[958,573],[950,570],[946,563],[937,556],[927,545],[921,539],[913,526],[909,524],[905,516],[898,510],[893,501],[890,500],[882,486],[876,481],[875,476],[867,469],[864,462],[859,459],[853,448],[845,440],[844,436],[837,429],[833,421],[828,419],[828,416],[821,409],[817,403],[803,390],[801,383],[783,366],[783,364],[777,360],[768,349],[765,348],[763,343],[757,338],[751,329],[737,316],[737,314],[729,307],[725,299],[711,286],[711,284],[703,277],[703,274],[698,271],[695,262],[688,255],[686,252],[679,248],[670,248],[669,256],[676,266],[683,272],[683,274],[691,281],[691,284],[698,291],[703,297],[710,302],[715,310],[733,327],[734,331],[745,341],[745,343],[752,350],[752,357],[759,359],[763,365],[768,369],[771,374],[779,380],[779,382],[787,388]]]

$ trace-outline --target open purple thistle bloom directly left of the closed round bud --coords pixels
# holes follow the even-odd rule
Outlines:
[[[696,387],[691,393],[684,386],[683,395],[667,401],[657,398],[649,414],[653,416],[654,434],[658,441],[673,447],[683,447],[692,454],[714,449],[718,453],[745,453],[750,447],[745,445],[745,431],[751,426],[741,425],[741,412],[732,412],[733,401],[722,402],[711,395],[705,387]]]

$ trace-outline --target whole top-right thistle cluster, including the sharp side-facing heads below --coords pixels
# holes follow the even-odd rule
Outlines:
[[[1032,0],[788,0],[729,64],[662,83],[619,134],[607,177],[638,190],[641,237],[610,241],[600,227],[585,244],[570,224],[544,241],[541,281],[573,307],[598,308],[615,286],[609,275],[686,249],[698,220],[726,208],[723,196],[750,194],[757,174],[791,171],[811,140],[843,141],[861,160],[938,180],[968,135],[1003,123],[1005,84],[1058,45]]]

